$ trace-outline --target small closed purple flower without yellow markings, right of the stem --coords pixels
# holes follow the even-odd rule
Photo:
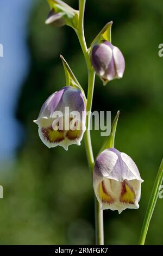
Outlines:
[[[125,61],[122,52],[109,41],[96,44],[92,48],[91,62],[104,85],[115,78],[122,78]]]

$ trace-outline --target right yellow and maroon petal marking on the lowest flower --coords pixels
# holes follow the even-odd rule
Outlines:
[[[120,201],[122,203],[134,204],[135,202],[135,192],[132,187],[130,187],[125,181],[122,182],[122,192]]]

